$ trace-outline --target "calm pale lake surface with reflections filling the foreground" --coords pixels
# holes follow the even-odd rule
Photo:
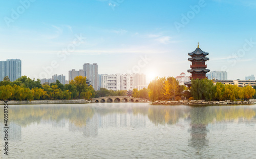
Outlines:
[[[9,106],[1,158],[256,158],[256,105]]]

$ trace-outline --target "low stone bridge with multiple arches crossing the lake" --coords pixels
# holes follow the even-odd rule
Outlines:
[[[142,98],[133,98],[133,97],[125,97],[125,96],[114,96],[114,97],[100,97],[100,98],[93,98],[93,102],[96,103],[112,103],[112,102],[150,102],[147,99],[142,99]]]

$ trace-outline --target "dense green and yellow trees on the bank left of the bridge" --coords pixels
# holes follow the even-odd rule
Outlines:
[[[91,99],[95,92],[92,85],[88,86],[86,77],[77,76],[69,84],[41,84],[40,80],[32,80],[22,76],[11,82],[5,77],[0,82],[0,100],[51,100],[51,99]]]

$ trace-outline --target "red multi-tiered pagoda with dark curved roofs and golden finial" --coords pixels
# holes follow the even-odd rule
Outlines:
[[[191,73],[190,79],[204,79],[207,78],[205,74],[209,72],[210,70],[206,69],[207,65],[205,64],[205,61],[209,60],[207,56],[209,53],[206,53],[202,51],[199,48],[199,43],[197,46],[197,49],[191,53],[188,53],[190,58],[188,58],[189,61],[192,62],[192,65],[190,65],[190,70],[187,70],[187,72]],[[191,81],[185,83],[188,87],[191,86]]]

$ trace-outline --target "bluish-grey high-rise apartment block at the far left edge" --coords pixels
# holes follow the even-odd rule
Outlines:
[[[6,61],[0,61],[0,81],[3,81],[6,76],[10,81],[15,81],[19,77],[22,77],[22,60],[8,59]]]

